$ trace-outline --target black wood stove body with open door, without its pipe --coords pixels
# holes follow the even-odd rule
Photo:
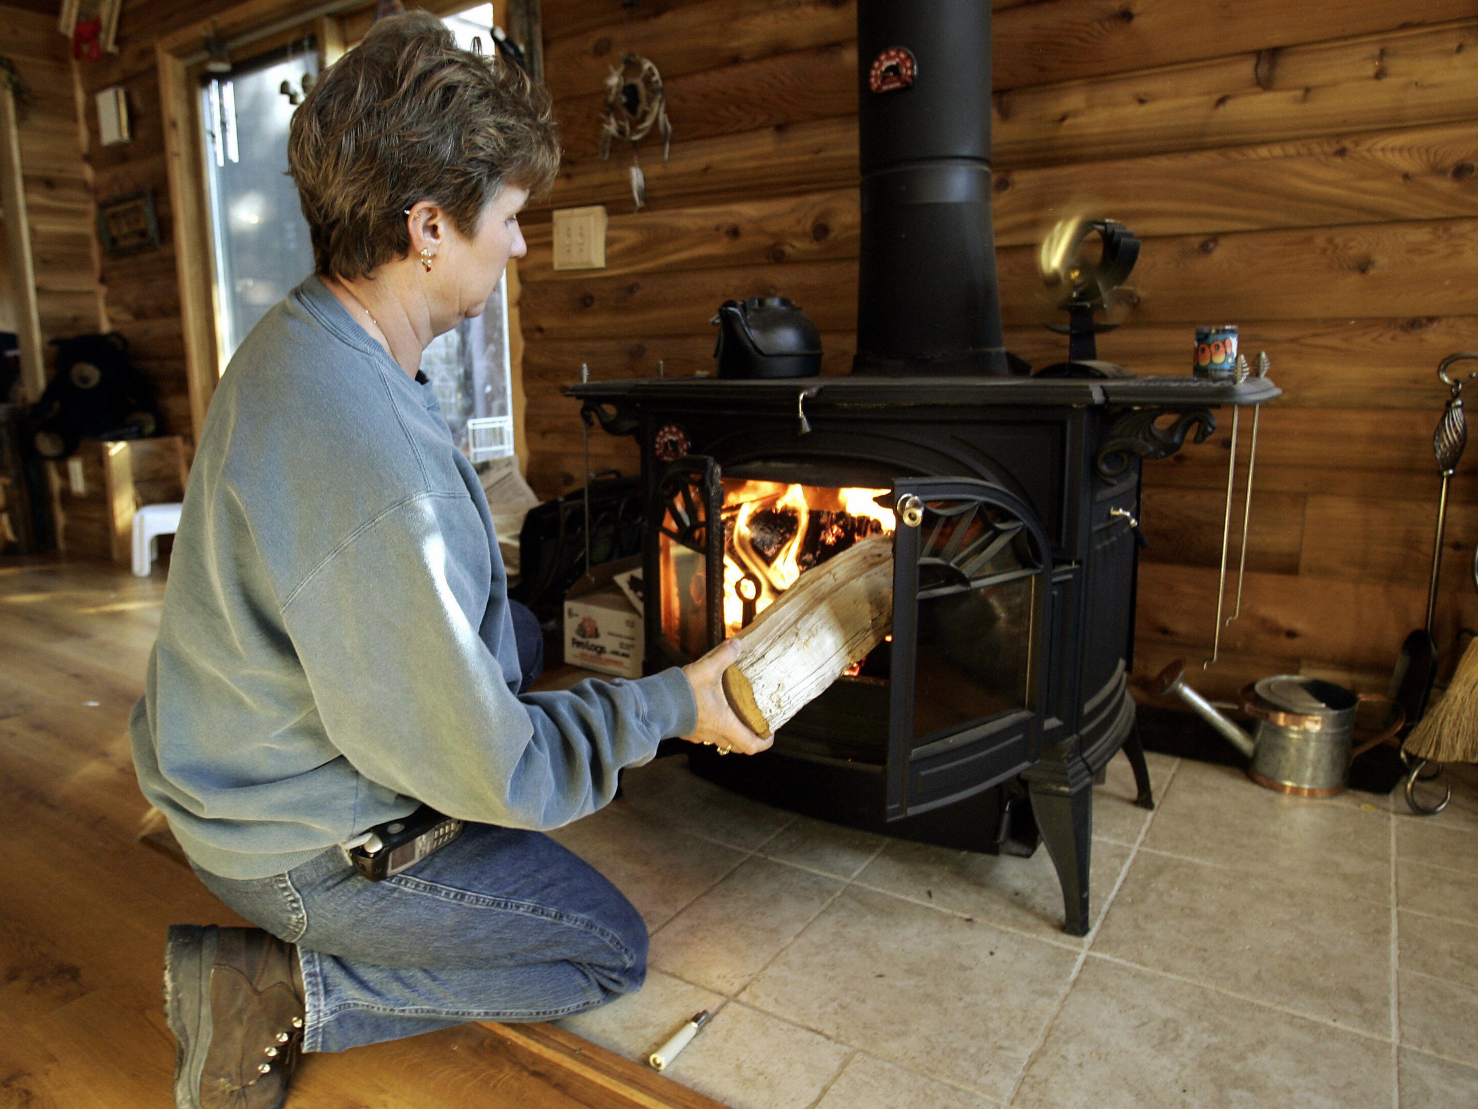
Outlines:
[[[1203,440],[1212,406],[1261,403],[1277,387],[652,378],[571,393],[641,444],[652,669],[717,645],[807,561],[894,535],[891,641],[772,752],[698,750],[693,768],[936,843],[1030,854],[1041,834],[1067,930],[1082,935],[1091,784],[1120,747],[1150,803],[1126,685],[1141,461]]]

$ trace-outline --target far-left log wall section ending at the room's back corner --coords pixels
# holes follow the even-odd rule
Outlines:
[[[101,300],[92,190],[81,159],[68,41],[56,30],[56,15],[35,7],[0,6],[0,55],[15,65],[24,89],[24,99],[16,103],[16,145],[41,354],[50,372],[55,365],[50,340],[96,331]],[[22,310],[19,297],[15,309]],[[19,319],[16,325],[21,326]]]

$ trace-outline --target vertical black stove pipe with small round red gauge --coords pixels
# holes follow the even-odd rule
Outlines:
[[[1009,372],[990,223],[990,9],[857,0],[853,372]]]

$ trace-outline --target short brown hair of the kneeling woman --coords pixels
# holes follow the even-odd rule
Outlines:
[[[377,22],[313,86],[287,143],[313,264],[343,278],[409,254],[417,201],[476,235],[505,185],[548,190],[559,157],[548,92],[495,53],[463,50],[429,12]]]

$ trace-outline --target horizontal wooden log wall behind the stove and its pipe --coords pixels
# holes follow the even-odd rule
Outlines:
[[[996,242],[1007,341],[1066,356],[1042,323],[1035,253],[1058,219],[1144,238],[1138,304],[1101,341],[1138,374],[1187,374],[1193,328],[1234,322],[1284,397],[1262,413],[1242,619],[1209,654],[1230,413],[1208,443],[1144,468],[1137,669],[1175,656],[1231,694],[1278,672],[1382,691],[1422,625],[1438,475],[1437,362],[1478,347],[1478,6],[1472,0],[995,0]],[[625,16],[625,18],[624,18]],[[581,474],[560,388],[709,365],[729,297],[788,295],[825,371],[856,325],[854,7],[845,0],[544,0],[545,77],[566,158],[526,219],[529,477]],[[674,128],[597,157],[602,83],[624,50],[662,71]],[[605,270],[551,269],[550,208],[605,204]],[[1246,422],[1243,424],[1243,452]],[[630,440],[594,468],[634,473]],[[1454,478],[1437,638],[1478,623],[1469,558],[1478,458]],[[1240,487],[1240,478],[1239,478]],[[1236,563],[1236,539],[1233,540]],[[1454,657],[1454,656],[1450,656]],[[1450,660],[1448,660],[1450,665]]]

